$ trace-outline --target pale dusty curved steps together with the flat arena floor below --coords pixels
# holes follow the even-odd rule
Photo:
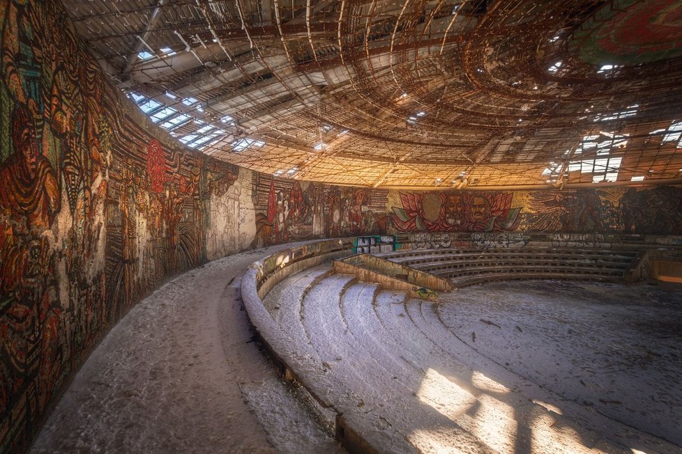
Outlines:
[[[526,281],[432,303],[317,268],[265,304],[354,412],[418,451],[651,454],[682,453],[681,295]]]

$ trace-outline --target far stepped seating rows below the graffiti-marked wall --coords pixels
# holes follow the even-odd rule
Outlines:
[[[435,249],[381,254],[448,277],[455,287],[510,279],[581,279],[618,281],[637,256],[636,249]]]

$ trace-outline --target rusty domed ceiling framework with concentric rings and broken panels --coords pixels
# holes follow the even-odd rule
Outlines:
[[[682,1],[65,0],[207,155],[369,187],[682,181]]]

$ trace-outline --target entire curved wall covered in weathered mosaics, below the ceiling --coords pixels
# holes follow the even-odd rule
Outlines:
[[[2,452],[28,448],[135,302],[234,251],[369,233],[436,245],[479,232],[682,234],[681,187],[409,192],[240,169],[153,125],[109,83],[58,1],[3,1],[0,26]]]

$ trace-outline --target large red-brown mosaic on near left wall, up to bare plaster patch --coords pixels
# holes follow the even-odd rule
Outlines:
[[[4,1],[0,24],[0,452],[22,452],[134,302],[253,223],[225,225],[238,169],[156,137],[59,3]]]

